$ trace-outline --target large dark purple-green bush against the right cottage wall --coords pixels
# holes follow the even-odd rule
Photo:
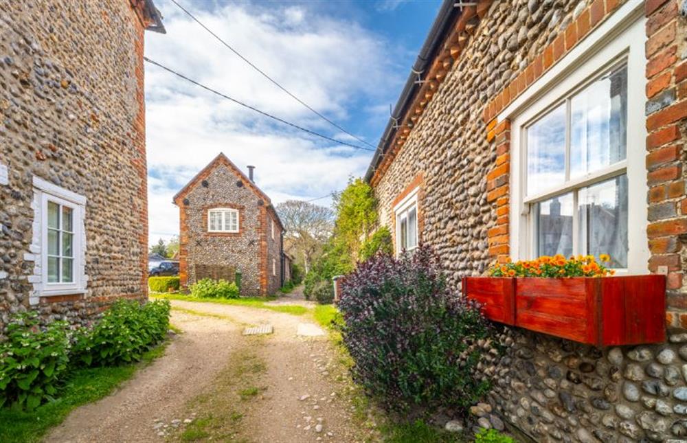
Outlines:
[[[469,345],[488,326],[472,302],[447,290],[427,247],[378,254],[346,276],[339,309],[353,376],[388,405],[466,408],[486,393]]]

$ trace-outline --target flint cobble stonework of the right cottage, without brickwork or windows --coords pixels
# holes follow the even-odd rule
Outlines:
[[[493,1],[375,185],[381,223],[394,227],[394,200],[423,175],[420,240],[438,253],[455,291],[462,277],[482,275],[493,262],[489,231],[508,216],[508,203],[487,200],[497,144],[487,141],[484,107],[592,3]],[[664,2],[649,3],[655,11]],[[684,31],[677,3],[669,0],[655,14],[672,14],[660,23],[682,20],[677,29]],[[684,59],[684,39],[678,45]],[[684,300],[684,293],[677,295]],[[661,345],[598,350],[518,328],[500,330],[504,355],[490,352],[480,363],[494,385],[492,411],[474,411],[484,427],[502,429],[506,421],[538,442],[687,439],[684,331],[671,332]]]

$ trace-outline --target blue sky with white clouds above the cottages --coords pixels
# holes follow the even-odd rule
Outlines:
[[[286,89],[376,146],[440,6],[431,1],[182,1]],[[146,56],[284,120],[360,144],[320,120],[185,16],[157,0],[167,34],[146,33]],[[218,152],[280,203],[340,190],[372,152],[272,122],[146,65],[150,242],[177,234],[172,196]],[[323,198],[318,204],[329,205]]]

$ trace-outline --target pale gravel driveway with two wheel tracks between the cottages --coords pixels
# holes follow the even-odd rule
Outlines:
[[[73,411],[47,437],[48,442],[156,442],[157,423],[175,423],[194,415],[189,403],[212,391],[229,356],[251,346],[267,365],[264,393],[245,408],[240,438],[249,442],[354,442],[357,430],[346,398],[344,370],[325,336],[298,337],[307,317],[270,310],[212,303],[172,301],[172,323],[184,333],[164,356],[139,371],[115,394]],[[181,309],[181,310],[180,310]],[[190,313],[190,310],[194,313]],[[249,341],[246,325],[271,323],[274,334]],[[335,381],[335,374],[337,374]],[[345,377],[343,377],[345,378]]]

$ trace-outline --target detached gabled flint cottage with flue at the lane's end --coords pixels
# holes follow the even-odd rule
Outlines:
[[[179,207],[182,286],[205,277],[234,280],[242,295],[270,295],[288,273],[282,225],[269,197],[224,154],[174,196]]]

